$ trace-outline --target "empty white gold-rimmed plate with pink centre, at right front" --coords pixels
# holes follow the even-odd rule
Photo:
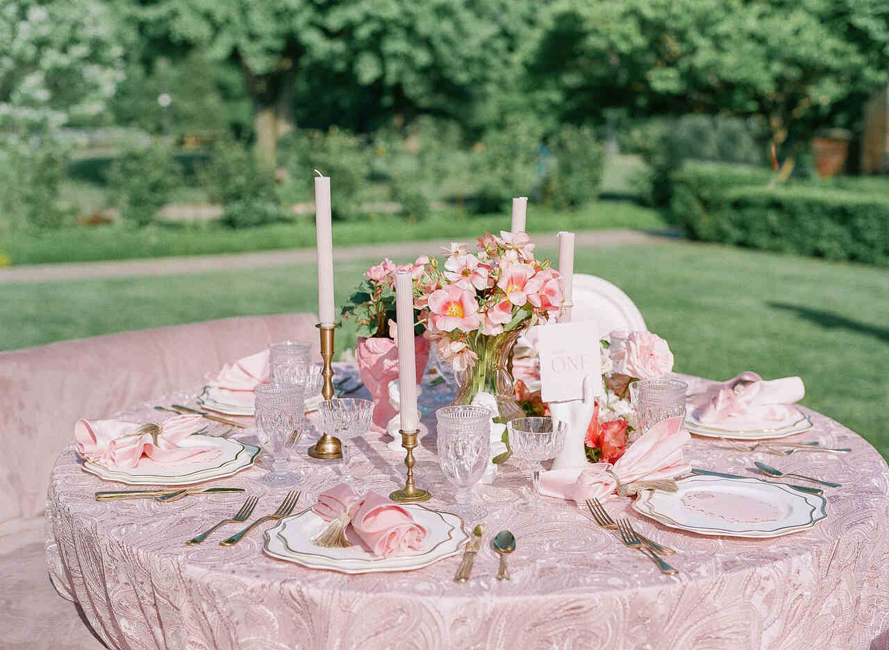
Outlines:
[[[664,526],[699,535],[778,537],[813,527],[827,500],[755,478],[691,476],[677,492],[645,490],[633,509]]]

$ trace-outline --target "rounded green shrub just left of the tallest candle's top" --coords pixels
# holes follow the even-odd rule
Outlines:
[[[286,218],[273,171],[238,142],[220,142],[213,147],[210,163],[198,177],[210,200],[225,208],[222,221],[228,226],[262,226]]]

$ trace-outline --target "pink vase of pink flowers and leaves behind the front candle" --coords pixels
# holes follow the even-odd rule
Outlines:
[[[389,258],[371,266],[364,272],[364,281],[342,307],[342,321],[355,320],[358,325],[358,341],[355,358],[358,375],[373,397],[373,424],[383,430],[395,415],[389,404],[388,384],[398,377],[398,348],[396,344],[395,273],[401,269],[411,271],[414,278],[424,272],[429,259],[425,256],[407,265],[396,265]],[[429,358],[429,344],[422,336],[426,327],[415,322],[417,380],[423,376]]]

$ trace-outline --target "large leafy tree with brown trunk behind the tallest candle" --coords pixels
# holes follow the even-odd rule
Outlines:
[[[268,163],[294,126],[297,96],[303,114],[317,104],[337,122],[331,98],[344,88],[351,102],[340,106],[470,111],[533,20],[530,0],[144,0],[134,11],[157,47],[204,47],[241,67]]]

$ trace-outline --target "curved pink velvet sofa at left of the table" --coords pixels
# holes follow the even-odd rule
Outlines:
[[[315,323],[310,313],[229,318],[0,353],[0,648],[103,647],[44,564],[46,486],[77,418],[199,384],[272,341],[316,341]]]

